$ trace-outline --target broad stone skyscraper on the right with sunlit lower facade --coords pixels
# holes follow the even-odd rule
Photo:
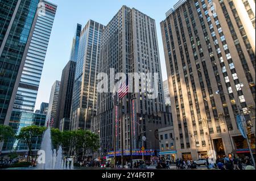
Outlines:
[[[161,23],[179,158],[249,153],[236,121],[241,111],[255,144],[255,16],[251,22],[248,2],[179,1]]]

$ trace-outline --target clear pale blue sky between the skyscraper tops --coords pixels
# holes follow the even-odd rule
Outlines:
[[[49,102],[53,82],[61,79],[64,66],[69,61],[71,43],[75,35],[76,24],[84,27],[89,19],[101,24],[108,24],[122,5],[126,5],[147,14],[156,21],[160,60],[163,79],[167,79],[164,61],[160,22],[166,18],[165,13],[177,2],[172,0],[49,0],[55,3],[57,12],[49,40],[42,79],[35,109],[40,108],[42,102]]]

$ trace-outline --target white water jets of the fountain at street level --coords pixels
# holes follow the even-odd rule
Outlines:
[[[46,132],[44,132],[43,138],[42,138],[42,144],[41,144],[41,150],[44,151],[44,163],[39,163],[36,166],[36,169],[38,170],[65,170],[65,169],[71,169],[73,170],[73,159],[71,161],[71,164],[69,166],[68,159],[65,161],[63,159],[62,155],[62,148],[59,147],[59,150],[56,152],[56,150],[52,150],[52,140],[51,140],[51,129],[47,129]],[[42,153],[42,152],[41,152]],[[66,166],[67,164],[67,166]]]

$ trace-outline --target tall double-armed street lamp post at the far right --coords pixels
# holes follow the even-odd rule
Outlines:
[[[243,83],[240,83],[240,87],[239,87],[239,89],[238,89],[237,91],[240,91],[243,86],[244,86]],[[235,102],[236,102],[236,108],[237,108],[236,112],[237,112],[237,115],[238,115],[238,116],[244,116],[244,115],[245,115],[245,113],[242,111],[240,105],[238,104],[238,96],[239,96],[238,94],[237,94],[237,99],[235,99],[233,96],[231,96],[231,95],[228,94],[228,93],[221,92],[220,90],[217,90],[217,91],[216,91],[216,94],[228,95],[230,98],[234,99]],[[243,124],[243,129],[245,129],[245,124],[246,124],[246,123],[244,123],[244,121],[242,121],[242,124]],[[246,126],[247,126],[247,125],[246,125]],[[246,129],[245,129],[245,130],[246,130]],[[247,141],[247,145],[248,145],[249,150],[250,150],[250,155],[251,155],[251,159],[252,159],[252,161],[253,161],[253,165],[254,165],[254,167],[255,167],[255,160],[254,160],[254,157],[253,157],[253,152],[251,151],[251,143],[250,143],[250,140],[249,140],[248,137],[246,138],[246,141]]]

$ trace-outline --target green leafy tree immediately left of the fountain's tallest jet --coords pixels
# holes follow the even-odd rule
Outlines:
[[[36,125],[32,125],[29,127],[24,127],[20,130],[20,133],[16,138],[18,140],[24,140],[28,147],[28,155],[27,162],[30,162],[30,155],[32,155],[32,144],[34,141],[38,139],[38,137],[42,137],[43,132],[46,130],[44,127],[38,127]]]

